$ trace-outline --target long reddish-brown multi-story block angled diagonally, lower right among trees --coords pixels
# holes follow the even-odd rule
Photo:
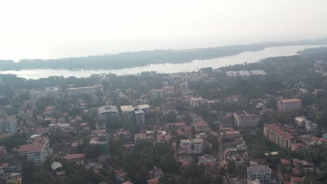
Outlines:
[[[291,144],[296,143],[296,139],[289,132],[284,131],[280,126],[267,124],[263,127],[263,134],[277,146],[291,148]]]

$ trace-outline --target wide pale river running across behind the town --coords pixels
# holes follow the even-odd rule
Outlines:
[[[116,75],[138,74],[145,71],[156,71],[163,73],[194,71],[200,68],[212,67],[219,68],[222,66],[235,65],[240,63],[254,63],[260,59],[275,56],[293,56],[299,50],[314,48],[314,47],[327,47],[327,45],[296,45],[296,46],[282,46],[282,47],[268,47],[261,51],[256,52],[242,52],[233,56],[224,56],[216,59],[194,60],[189,63],[163,63],[163,64],[150,64],[149,66],[123,68],[118,70],[52,70],[52,69],[37,69],[37,70],[7,70],[0,71],[2,74],[15,74],[18,77],[27,79],[39,79],[50,76],[64,76],[64,77],[89,77],[91,74],[99,73],[113,73]]]

